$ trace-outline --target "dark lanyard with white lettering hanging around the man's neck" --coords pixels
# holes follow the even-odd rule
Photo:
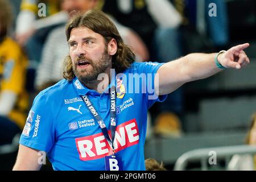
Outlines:
[[[111,86],[110,88],[110,131],[111,131],[111,136],[108,134],[108,129],[106,129],[105,122],[101,118],[100,114],[98,114],[97,110],[94,108],[92,105],[92,102],[90,102],[89,97],[87,94],[84,96],[80,96],[82,100],[85,102],[85,105],[89,109],[90,113],[93,115],[94,119],[98,122],[98,125],[100,126],[102,133],[104,134],[104,137],[108,140],[110,143],[110,146],[112,146],[113,149],[113,155],[114,155],[114,138],[115,138],[115,128],[116,128],[116,120],[117,116],[115,113],[115,86]]]

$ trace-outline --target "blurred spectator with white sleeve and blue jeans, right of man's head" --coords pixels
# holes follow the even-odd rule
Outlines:
[[[141,36],[151,59],[169,61],[181,55],[176,32],[181,16],[167,0],[105,1],[103,10]]]

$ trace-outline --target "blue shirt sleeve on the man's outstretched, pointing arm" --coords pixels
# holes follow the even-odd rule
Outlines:
[[[144,77],[144,81],[142,81],[142,93],[144,93],[144,99],[147,104],[147,109],[149,109],[155,102],[163,102],[166,100],[167,95],[157,96],[155,87],[155,79],[158,79],[158,69],[164,63],[157,62],[143,62],[143,63],[135,63],[135,69],[137,69],[137,73]],[[142,74],[144,76],[142,76]]]

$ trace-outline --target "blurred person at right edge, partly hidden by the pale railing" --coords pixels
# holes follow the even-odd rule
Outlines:
[[[251,119],[250,128],[246,136],[246,144],[256,145],[256,113]],[[229,170],[254,171],[256,170],[256,155],[233,155],[228,164]]]

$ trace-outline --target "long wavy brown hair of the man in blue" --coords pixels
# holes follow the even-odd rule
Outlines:
[[[70,34],[73,28],[86,27],[90,30],[100,34],[104,37],[105,43],[108,44],[110,40],[115,39],[117,42],[117,52],[112,56],[112,68],[116,72],[122,72],[135,60],[135,55],[133,51],[123,43],[121,36],[114,23],[109,19],[109,17],[100,10],[89,10],[85,13],[79,12],[69,20],[66,26],[66,36],[67,41],[70,38]],[[68,55],[64,60],[64,71],[63,77],[71,81],[75,74],[72,69],[72,60]]]

